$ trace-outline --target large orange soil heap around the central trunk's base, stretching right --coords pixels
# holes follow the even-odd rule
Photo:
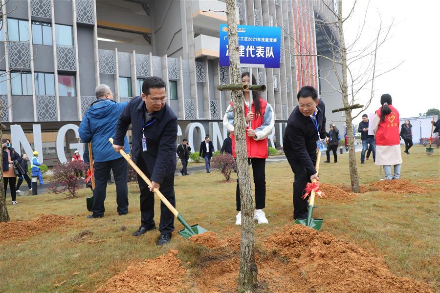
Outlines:
[[[221,249],[211,250],[196,265],[196,292],[236,291],[240,256],[221,247],[222,241]],[[392,274],[381,259],[356,245],[301,225],[270,235],[256,261],[258,286],[265,292],[432,292],[425,283]]]

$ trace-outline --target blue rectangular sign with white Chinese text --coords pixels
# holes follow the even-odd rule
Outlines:
[[[237,25],[237,33],[242,67],[280,68],[281,27]],[[226,24],[220,24],[220,66],[229,66]]]

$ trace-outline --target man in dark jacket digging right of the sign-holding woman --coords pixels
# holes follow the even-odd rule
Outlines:
[[[293,218],[307,218],[307,198],[302,199],[307,182],[319,180],[316,172],[317,142],[326,137],[326,107],[318,100],[312,86],[298,92],[296,106],[287,120],[283,149],[295,174],[293,183]]]

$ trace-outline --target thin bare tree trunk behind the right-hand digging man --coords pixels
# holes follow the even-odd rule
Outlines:
[[[343,18],[342,18],[342,0],[338,0],[338,31],[339,42],[341,50],[342,63],[342,102],[344,107],[350,106],[348,102],[348,81],[347,81],[347,47],[344,39]],[[359,192],[359,176],[357,174],[356,156],[354,153],[354,137],[352,136],[352,110],[345,110],[345,121],[347,126],[347,136],[349,138],[349,162],[350,162],[350,177],[352,180],[352,191]]]

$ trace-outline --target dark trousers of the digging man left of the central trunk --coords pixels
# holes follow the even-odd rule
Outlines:
[[[142,157],[137,160],[137,167],[142,172],[151,178],[150,172],[147,170],[145,161]],[[137,175],[137,182],[140,190],[140,208],[141,208],[141,226],[147,229],[155,226],[154,224],[154,192],[150,191],[147,183]],[[160,192],[171,203],[173,207],[176,207],[176,198],[174,195],[174,173],[165,175],[159,188]],[[165,206],[163,202],[160,202],[160,222],[159,222],[160,234],[170,235],[174,231],[174,214]]]

